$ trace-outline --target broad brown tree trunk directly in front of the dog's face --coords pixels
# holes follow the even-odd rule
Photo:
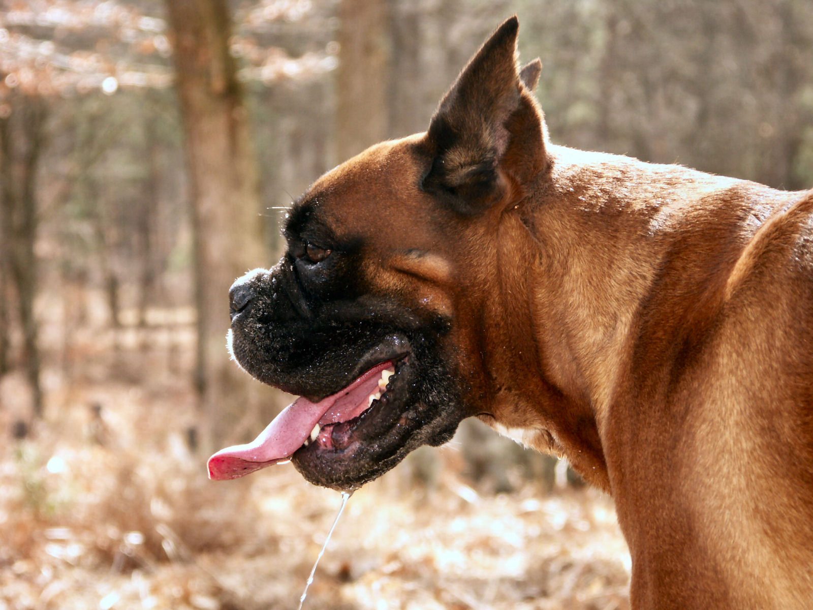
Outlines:
[[[185,126],[198,307],[196,384],[211,449],[247,406],[249,383],[228,360],[228,287],[262,264],[258,172],[241,88],[228,51],[225,0],[167,0],[176,89]]]

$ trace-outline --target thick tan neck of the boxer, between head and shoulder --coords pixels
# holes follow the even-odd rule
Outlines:
[[[561,146],[549,155],[535,198],[500,225],[501,290],[484,304],[495,322],[489,344],[527,342],[514,339],[510,361],[493,358],[495,411],[501,431],[520,429],[524,444],[566,455],[610,490],[608,426],[624,421],[611,412],[634,408],[631,380],[653,392],[667,384],[676,351],[711,324],[733,265],[774,208],[713,200],[721,189],[763,189],[749,182]],[[533,264],[515,264],[530,251]],[[651,307],[663,299],[668,307]],[[672,318],[654,320],[650,308]],[[526,328],[501,327],[517,319],[502,315],[509,309],[524,311]]]

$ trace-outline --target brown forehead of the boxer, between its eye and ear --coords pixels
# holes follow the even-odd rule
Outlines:
[[[428,155],[422,136],[381,142],[321,176],[293,204],[286,237],[329,240],[402,230],[408,218],[425,215],[428,195],[420,182]]]

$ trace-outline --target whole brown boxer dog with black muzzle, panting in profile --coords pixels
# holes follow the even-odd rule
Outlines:
[[[633,608],[813,608],[813,194],[551,145],[517,28],[235,283],[233,355],[303,398],[211,476],[353,488],[476,415],[611,493]]]

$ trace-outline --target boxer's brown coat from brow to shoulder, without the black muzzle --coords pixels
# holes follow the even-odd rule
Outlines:
[[[615,499],[633,608],[813,607],[813,193],[548,142],[516,20],[312,188],[480,418]]]

